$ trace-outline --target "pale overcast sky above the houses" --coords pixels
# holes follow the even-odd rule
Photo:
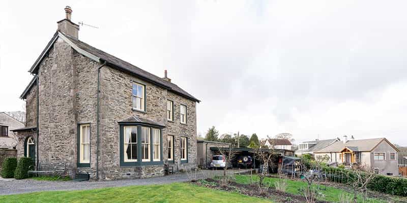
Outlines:
[[[407,146],[405,1],[0,1],[0,111],[71,6],[79,40],[201,100],[197,131]]]

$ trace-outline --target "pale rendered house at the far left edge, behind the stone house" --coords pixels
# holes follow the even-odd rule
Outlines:
[[[13,149],[17,145],[12,129],[24,127],[24,123],[5,112],[0,112],[0,148]]]

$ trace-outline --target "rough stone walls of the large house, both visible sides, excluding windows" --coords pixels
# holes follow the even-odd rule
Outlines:
[[[24,156],[24,141],[33,136],[39,162],[47,165],[68,164],[69,176],[88,173],[91,179],[113,180],[148,178],[164,175],[164,165],[120,165],[118,121],[129,116],[146,118],[164,125],[162,158],[167,163],[167,135],[174,136],[174,169],[196,166],[196,102],[134,75],[108,65],[100,69],[99,140],[97,137],[98,68],[102,63],[57,39],[39,65],[39,139],[36,132],[18,132],[17,156]],[[146,86],[146,111],[132,109],[132,82]],[[166,119],[166,101],[174,104],[174,121]],[[187,106],[187,124],[180,123],[180,105]],[[37,86],[26,98],[27,125],[37,125]],[[79,124],[90,124],[90,167],[77,167]],[[188,138],[188,162],[180,161],[181,137]],[[99,154],[97,145],[99,141]],[[97,160],[98,157],[98,160]],[[97,163],[99,165],[97,165]],[[97,174],[98,170],[98,177]]]

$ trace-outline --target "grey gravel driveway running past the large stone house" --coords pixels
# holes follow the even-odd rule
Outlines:
[[[232,173],[247,173],[250,170],[228,170]],[[209,174],[222,174],[223,171],[202,171],[208,177]],[[204,178],[202,173],[197,174],[197,179]],[[50,191],[50,190],[84,190],[104,187],[122,187],[130,185],[153,185],[188,181],[187,174],[174,174],[169,176],[147,179],[123,179],[113,181],[37,181],[33,179],[2,179],[0,178],[0,195],[19,194],[27,192]]]

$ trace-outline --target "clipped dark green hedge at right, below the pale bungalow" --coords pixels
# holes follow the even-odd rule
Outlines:
[[[352,170],[346,170],[339,167],[327,166],[323,168],[323,171],[327,174],[329,181],[343,184],[352,183],[353,178],[347,177],[354,176]],[[407,179],[377,175],[370,181],[367,188],[372,191],[407,196]]]

